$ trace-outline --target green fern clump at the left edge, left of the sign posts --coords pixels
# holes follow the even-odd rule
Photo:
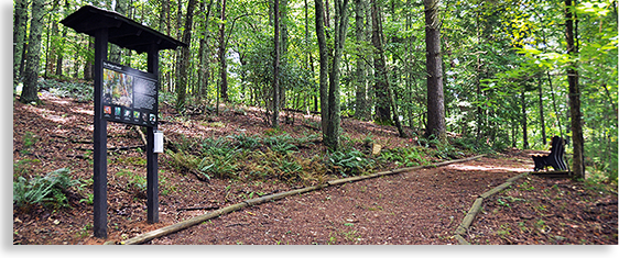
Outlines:
[[[19,177],[13,181],[13,204],[24,207],[37,203],[52,203],[55,205],[68,205],[64,191],[79,184],[79,180],[70,178],[67,168],[54,170],[45,177],[34,177],[26,180]]]

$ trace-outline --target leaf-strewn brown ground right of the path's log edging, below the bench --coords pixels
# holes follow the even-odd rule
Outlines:
[[[530,176],[485,200],[466,239],[492,245],[617,245],[617,194]]]

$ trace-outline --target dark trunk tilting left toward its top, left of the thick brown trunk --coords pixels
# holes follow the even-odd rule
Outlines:
[[[372,45],[374,46],[374,94],[376,94],[376,122],[391,124],[391,109],[387,81],[387,68],[382,48],[382,30],[380,29],[380,11],[377,0],[371,1],[372,15]]]

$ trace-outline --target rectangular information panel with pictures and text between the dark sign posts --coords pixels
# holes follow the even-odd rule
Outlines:
[[[156,75],[104,61],[104,110],[108,121],[155,126],[158,122]]]

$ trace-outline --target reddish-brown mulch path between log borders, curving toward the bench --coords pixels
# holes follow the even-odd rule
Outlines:
[[[313,191],[250,206],[152,244],[455,244],[478,194],[524,158],[480,158]]]

